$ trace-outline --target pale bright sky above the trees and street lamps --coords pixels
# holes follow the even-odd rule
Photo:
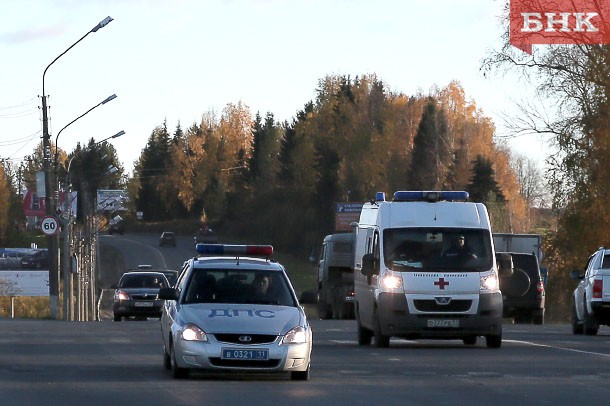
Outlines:
[[[170,133],[227,103],[291,121],[326,75],[376,74],[390,90],[427,93],[458,80],[469,99],[501,117],[528,97],[516,79],[483,77],[499,46],[503,0],[0,0],[0,158],[18,162],[42,134],[47,65],[50,134],[106,97],[118,97],[63,131],[58,145],[112,140],[125,169],[155,127]],[[542,161],[545,141],[511,141]]]

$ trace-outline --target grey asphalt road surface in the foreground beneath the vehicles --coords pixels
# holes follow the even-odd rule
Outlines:
[[[506,325],[484,340],[361,347],[353,320],[312,320],[311,378],[194,374],[162,366],[159,322],[0,320],[0,399],[11,405],[567,405],[610,397],[610,330]],[[7,402],[7,403],[5,403]]]

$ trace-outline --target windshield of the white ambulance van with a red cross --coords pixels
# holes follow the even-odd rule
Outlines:
[[[477,229],[392,228],[383,234],[386,266],[480,271],[492,265],[489,233]]]

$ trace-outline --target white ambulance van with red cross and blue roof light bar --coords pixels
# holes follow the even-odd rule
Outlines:
[[[399,191],[354,224],[358,344],[390,337],[502,345],[502,294],[487,209],[462,191]],[[502,259],[506,272],[510,262]]]

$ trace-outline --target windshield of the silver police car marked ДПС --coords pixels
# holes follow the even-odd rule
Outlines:
[[[194,269],[185,286],[184,304],[233,303],[296,306],[281,272]]]

